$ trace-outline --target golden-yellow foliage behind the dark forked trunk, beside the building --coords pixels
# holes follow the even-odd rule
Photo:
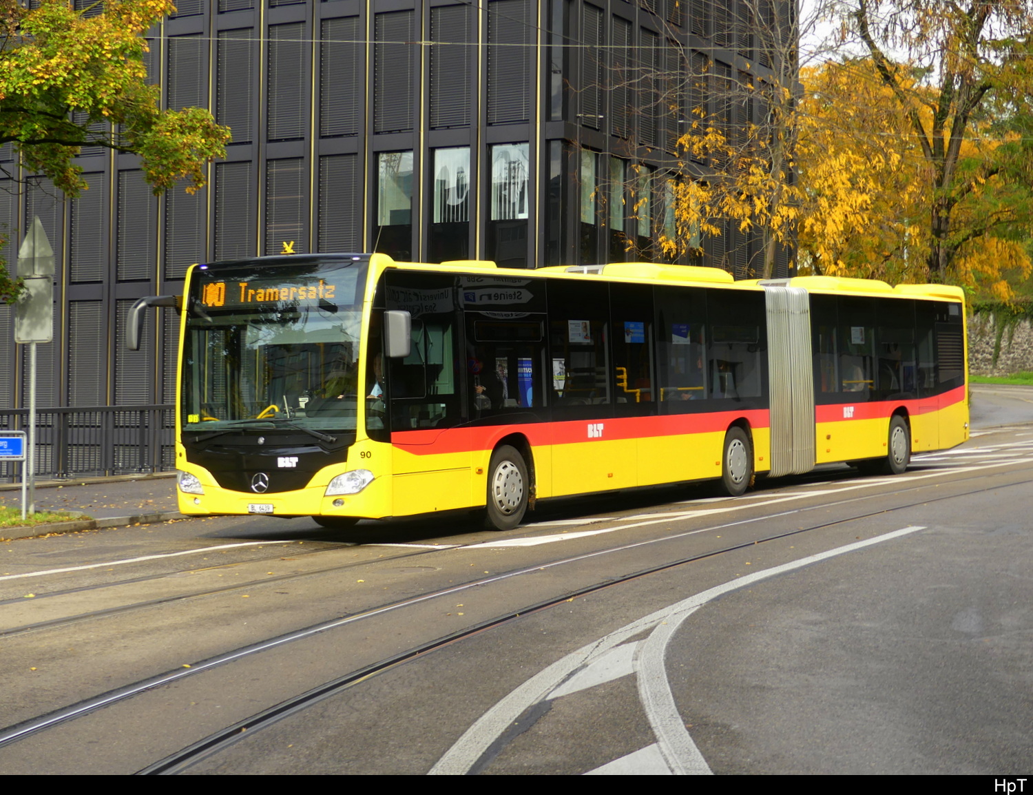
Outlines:
[[[936,172],[871,58],[826,62],[801,74],[799,172],[802,272],[929,281],[935,241]],[[932,102],[919,77],[903,82]],[[929,106],[919,111],[928,121]],[[996,116],[996,115],[995,115]],[[961,144],[963,167],[989,158],[1005,170],[1021,148],[1015,119],[984,118],[977,140]],[[1029,273],[1031,192],[1000,174],[976,181],[954,206],[958,247],[948,279],[1006,298],[1006,270]]]

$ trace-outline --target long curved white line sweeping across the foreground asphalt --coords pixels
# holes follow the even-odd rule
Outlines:
[[[571,673],[576,671],[582,666],[599,659],[603,653],[609,651],[615,646],[619,646],[646,630],[655,629],[656,626],[663,624],[664,621],[667,622],[664,624],[665,629],[664,632],[661,633],[660,639],[657,640],[657,645],[655,647],[657,651],[651,651],[651,655],[659,653],[662,651],[662,647],[665,647],[666,645],[666,640],[664,639],[669,639],[682,621],[691,615],[694,610],[702,607],[709,602],[712,602],[718,597],[722,597],[725,593],[738,590],[760,580],[775,577],[779,574],[784,574],[785,572],[802,569],[806,565],[810,565],[831,557],[846,554],[847,552],[853,552],[875,544],[891,541],[912,532],[917,532],[921,529],[925,529],[925,527],[904,527],[899,530],[894,530],[893,532],[883,533],[882,536],[876,536],[872,539],[854,542],[853,544],[837,547],[825,552],[820,552],[816,555],[810,555],[799,560],[793,560],[789,563],[783,563],[782,565],[776,565],[760,572],[754,572],[753,574],[749,574],[744,577],[738,577],[734,580],[729,580],[721,585],[709,588],[701,593],[696,593],[695,595],[689,597],[681,602],[677,602],[674,605],[669,605],[665,608],[657,610],[656,612],[650,613],[649,615],[632,621],[631,623],[625,624],[619,630],[615,630],[608,635],[604,635],[603,637],[582,646],[576,651],[572,651],[561,660],[556,661],[543,671],[540,671],[535,676],[532,676],[519,687],[503,697],[498,703],[484,712],[484,714],[477,718],[477,721],[475,721],[473,725],[467,729],[458,740],[456,740],[452,746],[448,748],[441,759],[439,759],[430,769],[429,774],[462,775],[467,773],[492,746],[492,744],[502,735],[502,733],[512,725],[513,721],[520,717],[526,709],[547,698],[550,693],[556,690],[556,687],[564,679],[570,676]],[[653,693],[655,694],[655,691]],[[651,695],[651,700],[652,699],[653,696]],[[662,696],[660,701],[662,701]],[[663,714],[654,712],[650,718],[650,723],[655,727],[656,723],[654,722],[663,720],[666,720]],[[670,738],[668,737],[668,742]],[[677,737],[675,738],[675,742],[670,743],[666,751],[661,750],[661,753],[664,754],[665,758],[667,753],[686,754],[684,747],[680,747]],[[697,762],[693,759],[691,753],[680,757],[678,759],[678,764],[684,770],[697,769]]]

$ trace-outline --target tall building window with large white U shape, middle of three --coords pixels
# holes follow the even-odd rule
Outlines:
[[[470,256],[470,149],[434,150],[434,214],[428,238],[431,262]]]

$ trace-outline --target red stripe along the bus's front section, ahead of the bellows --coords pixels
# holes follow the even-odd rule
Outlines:
[[[397,431],[392,434],[392,444],[414,455],[466,453],[474,450],[491,450],[497,439],[510,433],[522,433],[527,436],[532,447],[542,447],[723,432],[739,419],[745,419],[753,428],[766,428],[768,417],[768,409],[756,408],[746,411],[619,417],[526,425],[481,425],[473,428]]]

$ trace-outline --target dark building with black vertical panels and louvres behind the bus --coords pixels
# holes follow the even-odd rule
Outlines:
[[[22,189],[0,179],[8,258],[38,215],[57,259],[37,404],[170,404],[178,317],[151,314],[138,351],[124,319],[142,296],[181,293],[195,262],[285,245],[509,268],[652,258],[692,109],[728,135],[761,120],[747,89],[773,58],[760,32],[793,7],[180,0],[152,31],[149,69],[165,106],[232,128],[207,187],[155,197],[134,156],[100,148],[77,158],[90,189],[72,201],[32,175]],[[0,164],[17,170],[9,145]],[[687,167],[706,178],[706,163]],[[741,276],[759,252],[732,224],[698,243],[693,264]],[[12,326],[0,306],[0,412],[28,402]]]

